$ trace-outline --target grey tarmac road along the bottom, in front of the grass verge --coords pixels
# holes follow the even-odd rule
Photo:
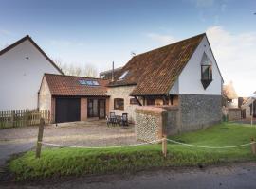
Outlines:
[[[147,189],[255,189],[256,163],[232,163],[200,168],[166,168],[136,174],[116,174],[42,180],[30,183],[4,183],[1,188],[147,188]]]

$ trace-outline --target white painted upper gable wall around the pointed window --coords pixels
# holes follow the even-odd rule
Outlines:
[[[201,60],[204,52],[212,62],[212,82],[205,90],[201,83]],[[175,82],[170,94],[207,94],[221,95],[223,80],[217,68],[213,55],[210,50],[210,44],[204,37],[194,51],[191,60],[187,63],[182,73]]]

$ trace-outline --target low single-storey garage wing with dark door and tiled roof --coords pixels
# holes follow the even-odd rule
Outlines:
[[[104,119],[108,114],[108,80],[45,74],[39,90],[39,109],[50,110],[52,123]]]

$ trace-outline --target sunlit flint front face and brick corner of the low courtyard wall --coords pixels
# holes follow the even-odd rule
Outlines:
[[[166,125],[167,111],[156,107],[137,107],[136,136],[137,140],[155,141],[161,139]]]

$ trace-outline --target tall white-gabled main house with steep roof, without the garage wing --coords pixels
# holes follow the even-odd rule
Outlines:
[[[134,56],[108,84],[109,108],[129,113],[138,106],[176,106],[179,125],[221,121],[223,78],[206,34]]]

